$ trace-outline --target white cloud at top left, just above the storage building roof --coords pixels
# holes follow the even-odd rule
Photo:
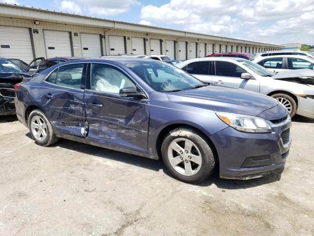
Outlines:
[[[140,5],[137,0],[62,0],[61,11],[77,14],[97,15],[103,18],[130,11],[132,5]]]

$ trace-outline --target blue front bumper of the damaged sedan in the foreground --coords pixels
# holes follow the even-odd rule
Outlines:
[[[283,143],[280,133],[288,130],[291,119],[272,125],[267,134],[244,133],[228,127],[211,136],[219,158],[222,178],[249,179],[283,171],[291,138]]]

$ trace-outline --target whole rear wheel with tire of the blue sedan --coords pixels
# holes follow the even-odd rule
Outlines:
[[[40,146],[50,146],[59,140],[59,138],[55,136],[48,118],[40,110],[33,110],[29,114],[28,128],[31,137],[35,143]]]

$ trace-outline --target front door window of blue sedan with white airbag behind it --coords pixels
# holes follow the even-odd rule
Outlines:
[[[119,94],[120,89],[138,89],[131,79],[118,68],[106,64],[92,64],[91,89]]]

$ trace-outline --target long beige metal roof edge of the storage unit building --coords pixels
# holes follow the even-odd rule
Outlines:
[[[130,22],[110,20],[100,17],[83,16],[72,13],[59,12],[55,10],[29,7],[25,5],[0,3],[0,17],[11,17],[16,19],[37,20],[51,23],[62,23],[68,25],[90,26],[104,29],[117,29],[125,31],[136,31],[145,33],[155,33],[163,35],[172,35],[178,38],[197,38],[211,40],[216,42],[239,43],[247,45],[282,47],[281,45],[267,44],[260,42],[247,41],[242,39],[219,37],[209,34],[188,32],[178,29],[161,28],[157,26],[146,26]]]

